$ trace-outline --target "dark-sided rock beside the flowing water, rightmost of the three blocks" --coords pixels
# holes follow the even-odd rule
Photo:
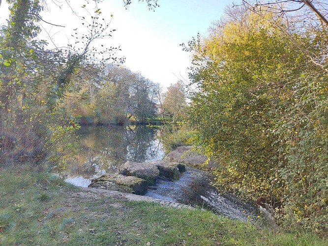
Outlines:
[[[180,172],[185,172],[185,166],[179,162],[172,162],[169,160],[154,160],[145,162],[147,165],[154,165],[159,170],[159,176],[179,180]]]

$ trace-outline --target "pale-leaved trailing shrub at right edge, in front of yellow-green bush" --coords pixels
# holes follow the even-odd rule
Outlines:
[[[328,75],[302,78],[274,129],[281,142],[278,176],[284,186],[284,223],[327,233]]]

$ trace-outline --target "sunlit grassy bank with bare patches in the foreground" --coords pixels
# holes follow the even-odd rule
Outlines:
[[[0,245],[324,246],[196,209],[95,197],[47,173],[0,171]]]

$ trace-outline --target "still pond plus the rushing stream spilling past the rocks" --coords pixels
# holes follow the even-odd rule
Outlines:
[[[92,178],[118,173],[119,166],[127,160],[144,162],[164,156],[157,138],[160,128],[83,126],[77,134],[81,151],[69,159],[63,173],[66,182],[77,186],[88,187]],[[179,181],[159,178],[156,185],[149,187],[146,196],[208,208],[242,221],[259,220],[260,212],[254,204],[242,202],[233,195],[221,195],[210,185],[211,181],[205,172],[187,167]]]

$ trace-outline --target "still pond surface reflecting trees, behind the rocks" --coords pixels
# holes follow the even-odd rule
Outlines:
[[[158,133],[159,129],[147,126],[81,127],[80,153],[66,160],[66,181],[87,187],[94,177],[117,173],[127,160],[161,159],[164,151]]]

